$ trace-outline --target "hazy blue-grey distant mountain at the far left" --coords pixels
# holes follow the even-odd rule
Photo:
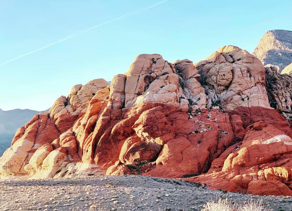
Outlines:
[[[40,113],[30,109],[14,109],[3,111],[0,109],[0,156],[11,145],[16,130],[25,125],[33,115]]]

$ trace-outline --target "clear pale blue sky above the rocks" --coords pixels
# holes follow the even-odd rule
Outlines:
[[[141,53],[197,62],[222,45],[252,53],[266,31],[292,30],[292,1],[169,0],[145,10],[161,1],[0,0],[0,65],[127,14],[0,66],[0,108],[48,109],[75,84],[126,72]]]

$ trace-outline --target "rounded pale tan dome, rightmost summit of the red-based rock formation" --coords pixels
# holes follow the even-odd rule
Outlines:
[[[223,46],[205,60],[196,63],[201,83],[215,93],[226,109],[238,106],[269,108],[265,88],[265,69],[249,52],[236,46]]]

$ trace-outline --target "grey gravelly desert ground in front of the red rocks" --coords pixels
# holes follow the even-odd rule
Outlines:
[[[222,191],[202,184],[144,176],[87,176],[71,179],[0,181],[0,210],[184,210],[199,211]],[[250,195],[227,193],[236,203]],[[263,198],[272,211],[292,210],[292,197]]]

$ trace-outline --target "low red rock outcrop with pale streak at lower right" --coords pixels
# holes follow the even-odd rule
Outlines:
[[[275,112],[271,112],[274,118],[280,119],[274,121],[284,121]],[[242,143],[231,146],[215,159],[208,173],[187,180],[207,183],[212,189],[291,196],[289,135],[264,121],[255,122],[246,128]]]

